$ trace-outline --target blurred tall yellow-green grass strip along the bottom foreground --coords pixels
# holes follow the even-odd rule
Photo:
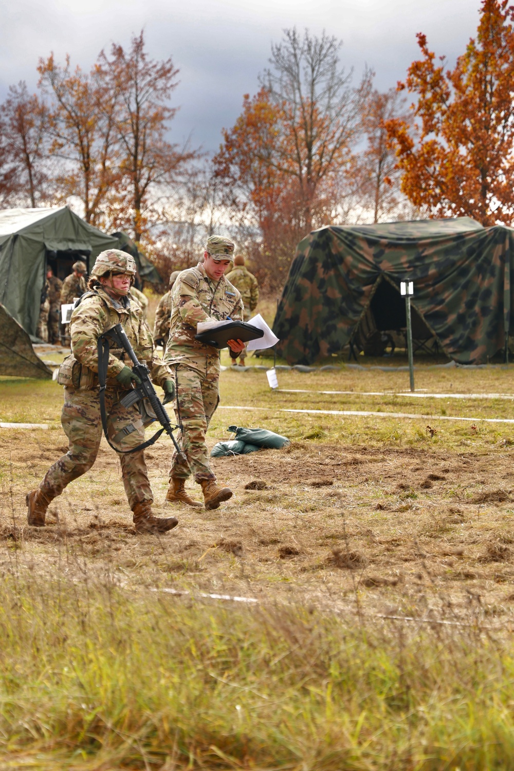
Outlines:
[[[108,579],[0,584],[0,766],[511,769],[511,643]]]

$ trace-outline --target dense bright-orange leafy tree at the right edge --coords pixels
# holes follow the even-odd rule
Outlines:
[[[405,83],[417,96],[415,130],[387,123],[402,172],[401,189],[432,217],[474,217],[483,225],[514,217],[514,8],[482,0],[475,39],[446,69],[418,34],[422,59]]]

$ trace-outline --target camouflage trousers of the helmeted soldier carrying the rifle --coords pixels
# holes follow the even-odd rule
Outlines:
[[[123,389],[106,389],[106,412],[109,439],[115,446],[126,450],[144,442],[144,429],[139,410],[136,407],[126,409],[119,404],[124,393]],[[68,452],[50,466],[39,484],[40,490],[50,498],[60,495],[72,480],[85,474],[95,463],[102,439],[98,391],[65,388],[61,423],[69,440]],[[127,436],[123,432],[126,426],[133,426]],[[136,503],[143,501],[151,503],[153,494],[143,450],[129,455],[119,454],[119,463],[129,507],[133,509]]]

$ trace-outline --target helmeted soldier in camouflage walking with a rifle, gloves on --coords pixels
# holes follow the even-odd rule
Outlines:
[[[91,291],[82,295],[72,312],[69,325],[72,355],[62,363],[58,382],[65,386],[61,423],[69,439],[66,455],[51,466],[35,490],[27,493],[30,525],[42,527],[49,503],[62,493],[72,480],[89,471],[96,460],[102,422],[100,416],[98,352],[100,335],[116,324],[123,325],[127,337],[141,362],[145,362],[153,382],[166,392],[164,403],[174,394],[173,374],[153,352],[153,341],[139,305],[129,299],[129,289],[136,274],[136,264],[130,254],[117,249],[102,251],[96,258],[89,279]],[[143,422],[136,406],[126,409],[119,403],[133,380],[132,362],[125,352],[109,343],[107,366],[106,411],[110,441],[120,449],[130,449],[144,442]],[[163,533],[175,527],[175,517],[159,519],[153,516],[150,489],[143,450],[119,454],[123,485],[133,522],[138,533]]]

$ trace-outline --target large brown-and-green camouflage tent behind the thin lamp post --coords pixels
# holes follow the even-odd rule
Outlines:
[[[386,311],[401,308],[407,280],[414,312],[442,350],[462,364],[486,362],[511,326],[513,235],[469,217],[321,227],[297,247],[274,322],[277,350],[296,364],[340,352],[378,291],[387,289]]]

